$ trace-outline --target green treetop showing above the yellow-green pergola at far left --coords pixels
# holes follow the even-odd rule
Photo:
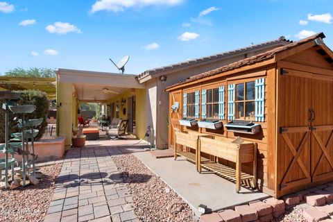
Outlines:
[[[56,71],[54,69],[46,68],[15,68],[10,71],[7,71],[4,76],[13,76],[13,77],[41,77],[41,78],[52,78],[56,77]]]

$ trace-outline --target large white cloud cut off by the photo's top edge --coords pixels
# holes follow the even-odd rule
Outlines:
[[[125,8],[144,6],[176,6],[184,0],[97,0],[92,5],[91,13],[101,10],[123,12]]]

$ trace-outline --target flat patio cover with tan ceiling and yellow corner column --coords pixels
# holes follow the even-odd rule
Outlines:
[[[71,146],[72,128],[76,126],[78,102],[107,103],[128,89],[144,89],[135,75],[98,71],[58,69],[57,135],[65,136]]]

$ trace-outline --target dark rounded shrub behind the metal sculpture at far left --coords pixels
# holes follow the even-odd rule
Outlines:
[[[38,126],[36,129],[40,130],[36,139],[40,139],[42,135],[45,133],[47,128],[46,117],[49,113],[49,101],[47,100],[46,93],[38,90],[23,90],[23,91],[15,91],[21,94],[19,100],[17,101],[17,105],[35,105],[36,110],[30,114],[25,114],[25,119],[38,119],[43,118],[42,124]],[[2,106],[4,100],[0,99],[0,105]],[[17,128],[17,121],[14,120],[15,117],[22,118],[22,114],[9,114],[9,133],[19,132],[19,128]],[[0,110],[0,142],[5,142],[5,112],[1,108]]]

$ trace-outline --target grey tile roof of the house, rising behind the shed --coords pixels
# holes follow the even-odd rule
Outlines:
[[[287,40],[284,36],[281,36],[276,40],[271,40],[271,41],[268,41],[268,42],[262,42],[262,43],[254,44],[254,45],[247,46],[247,47],[244,47],[244,48],[214,54],[212,56],[205,56],[205,57],[202,57],[202,58],[196,58],[194,60],[187,60],[185,62],[178,62],[178,63],[173,64],[173,65],[167,65],[167,66],[164,66],[164,67],[157,67],[155,69],[148,69],[148,70],[142,72],[141,74],[137,75],[137,78],[140,80],[141,78],[144,78],[145,76],[158,74],[158,73],[163,72],[163,71],[170,71],[170,70],[173,70],[173,69],[179,69],[180,67],[190,67],[191,65],[198,65],[200,62],[219,60],[219,59],[224,58],[226,56],[238,56],[239,54],[244,54],[244,53],[247,53],[248,51],[264,48],[265,46],[272,46],[274,44],[289,44],[291,42],[292,41]]]

